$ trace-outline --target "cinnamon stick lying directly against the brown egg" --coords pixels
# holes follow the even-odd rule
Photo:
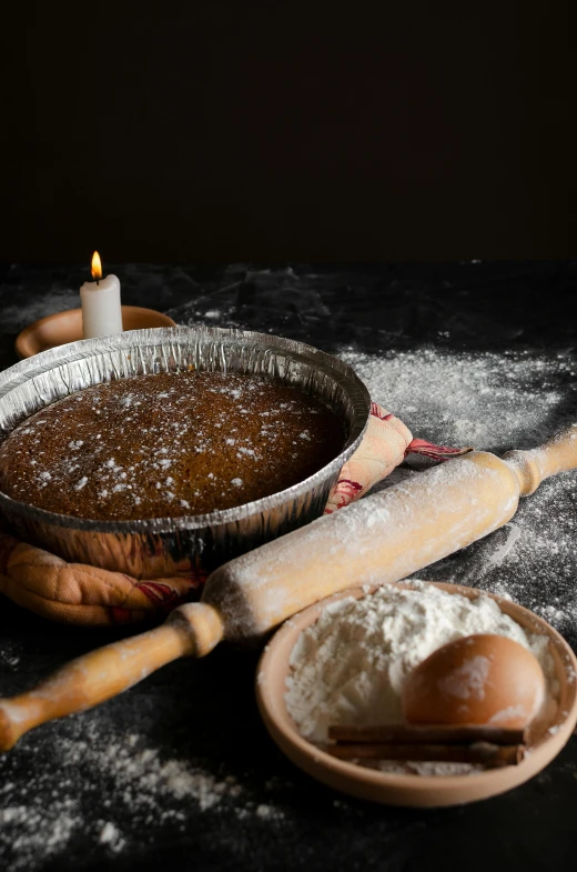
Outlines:
[[[353,744],[453,745],[489,742],[495,745],[518,745],[527,743],[527,730],[504,730],[484,724],[330,726],[328,739]]]

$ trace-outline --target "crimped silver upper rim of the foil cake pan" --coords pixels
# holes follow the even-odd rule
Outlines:
[[[326,465],[322,467],[307,479],[286,488],[283,491],[273,493],[270,497],[262,497],[243,503],[233,509],[222,509],[211,514],[181,515],[179,518],[148,518],[132,521],[100,521],[87,518],[75,518],[74,515],[49,512],[29,503],[13,500],[0,491],[0,509],[2,505],[9,508],[10,512],[22,515],[36,521],[65,527],[72,530],[83,530],[94,533],[176,533],[181,530],[199,530],[216,528],[236,521],[244,521],[256,514],[274,510],[290,500],[307,493],[317,484],[326,481],[332,475],[336,475],[348,458],[361,444],[366,425],[368,423],[371,395],[366,385],[361,381],[352,367],[338,358],[327,354],[325,351],[307,345],[292,339],[259,333],[251,330],[225,329],[217,327],[176,327],[176,328],[152,328],[146,330],[131,330],[112,337],[101,337],[97,339],[83,339],[78,342],[69,342],[49,351],[43,351],[32,358],[20,361],[0,373],[0,402],[1,398],[10,393],[29,379],[49,372],[51,369],[72,363],[78,360],[90,358],[94,354],[103,354],[107,350],[122,351],[139,348],[150,343],[162,343],[162,340],[179,344],[179,338],[190,338],[192,334],[202,334],[207,339],[230,340],[227,344],[252,343],[276,351],[288,352],[292,359],[302,359],[304,362],[314,365],[316,369],[327,372],[335,381],[340,382],[346,390],[353,402],[355,414],[351,422],[351,432],[346,444],[341,453]]]

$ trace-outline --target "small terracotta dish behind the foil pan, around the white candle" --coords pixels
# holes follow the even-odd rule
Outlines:
[[[176,327],[172,318],[154,309],[143,309],[140,305],[122,307],[122,324],[124,330],[145,330],[149,327]],[[40,351],[48,351],[67,342],[77,342],[83,339],[82,309],[68,309],[41,318],[29,324],[17,337],[14,348],[20,360],[31,358]]]

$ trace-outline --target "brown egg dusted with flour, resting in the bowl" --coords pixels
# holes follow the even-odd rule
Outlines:
[[[503,635],[467,635],[434,651],[408,675],[408,723],[490,724],[523,729],[545,700],[536,656]]]

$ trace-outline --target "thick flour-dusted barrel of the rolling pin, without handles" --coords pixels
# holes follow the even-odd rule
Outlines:
[[[224,608],[226,638],[259,635],[352,584],[406,578],[506,523],[518,499],[508,464],[465,454],[243,554],[203,602]]]

